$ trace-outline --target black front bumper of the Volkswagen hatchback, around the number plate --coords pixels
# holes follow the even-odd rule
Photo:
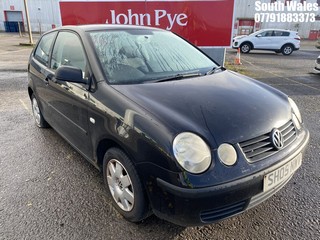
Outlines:
[[[151,201],[153,211],[158,217],[182,226],[205,225],[244,212],[286,185],[293,174],[275,188],[263,192],[264,176],[303,153],[308,141],[309,132],[306,131],[299,147],[282,161],[263,171],[217,186],[181,188],[157,178],[159,189]]]

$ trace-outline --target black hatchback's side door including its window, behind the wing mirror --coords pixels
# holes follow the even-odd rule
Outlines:
[[[80,68],[83,78],[88,74],[87,58],[79,36],[73,32],[59,32],[48,69],[48,106],[53,112],[54,129],[82,154],[91,157],[92,144],[88,127],[88,85],[58,81],[56,69],[62,65]]]

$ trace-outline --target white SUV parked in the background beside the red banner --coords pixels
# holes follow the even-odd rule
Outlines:
[[[248,36],[234,37],[232,48],[240,48],[242,53],[251,50],[268,50],[290,55],[300,48],[300,37],[297,32],[282,29],[263,29]]]

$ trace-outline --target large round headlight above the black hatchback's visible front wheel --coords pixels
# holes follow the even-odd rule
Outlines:
[[[173,153],[181,167],[191,173],[202,173],[211,164],[210,148],[194,133],[177,135],[173,140]]]

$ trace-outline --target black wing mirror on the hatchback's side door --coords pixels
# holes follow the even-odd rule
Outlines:
[[[65,82],[88,83],[88,81],[82,77],[82,70],[73,66],[59,67],[56,71],[55,79]]]

